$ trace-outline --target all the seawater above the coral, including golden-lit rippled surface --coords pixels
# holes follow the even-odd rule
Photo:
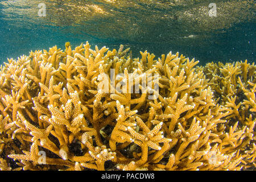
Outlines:
[[[88,41],[124,44],[134,57],[172,51],[200,64],[254,62],[255,9],[254,1],[0,1],[0,61]]]

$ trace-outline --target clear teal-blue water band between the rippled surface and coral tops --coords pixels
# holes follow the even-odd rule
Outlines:
[[[51,23],[30,23],[24,20],[24,26],[16,22],[20,21],[21,15],[13,15],[6,18],[6,6],[0,6],[0,63],[7,61],[7,57],[16,58],[20,55],[29,55],[29,52],[36,49],[47,49],[57,45],[64,49],[65,42],[71,42],[72,48],[88,41],[93,47],[109,47],[118,49],[119,44],[131,47],[133,56],[139,56],[139,51],[147,50],[154,53],[157,57],[163,53],[180,52],[183,55],[200,60],[201,64],[209,61],[240,61],[255,60],[256,50],[256,22],[233,23],[229,28],[222,28],[214,31],[189,32],[188,35],[196,35],[196,38],[184,38],[184,32],[174,31],[173,24],[156,23],[148,24],[147,35],[132,35],[129,38],[123,38],[120,32],[115,34],[115,30],[110,33],[100,34],[100,32],[90,32],[88,30],[101,30],[104,21],[94,20],[85,24],[76,24],[68,26],[67,24]],[[28,9],[29,10],[29,9]],[[130,9],[132,12],[133,9]],[[126,14],[126,16],[133,15]],[[134,18],[134,17],[133,17]],[[140,19],[139,17],[137,17]],[[159,20],[160,21],[160,20]],[[21,24],[21,25],[20,25]],[[182,24],[182,22],[181,22]],[[193,26],[193,24],[191,24]],[[147,26],[143,25],[147,28]],[[169,32],[170,34],[166,33]],[[115,36],[113,36],[115,34]],[[150,36],[152,35],[152,36]],[[157,35],[157,36],[156,36]],[[163,35],[163,36],[162,36]],[[131,38],[132,37],[132,38]]]

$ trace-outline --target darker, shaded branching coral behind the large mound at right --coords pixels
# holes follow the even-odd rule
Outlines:
[[[222,138],[225,143],[230,143],[229,148],[225,150],[236,151],[241,150],[246,154],[242,162],[255,167],[255,92],[256,92],[256,66],[244,62],[236,63],[208,63],[204,68],[205,75],[210,79],[209,85],[214,89],[214,94],[218,97],[218,102],[226,107],[229,111],[226,116],[227,129],[232,129],[232,125],[236,123],[236,129],[245,133],[245,140],[236,140],[232,142],[227,140],[230,134],[223,134]],[[247,126],[247,128],[246,128]],[[254,131],[253,131],[254,129]],[[234,126],[233,126],[233,131]],[[223,140],[222,140],[223,142]],[[249,155],[248,155],[249,154]],[[246,167],[250,167],[246,166]]]

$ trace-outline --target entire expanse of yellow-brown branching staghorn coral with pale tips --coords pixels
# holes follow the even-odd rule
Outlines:
[[[1,66],[1,170],[255,169],[254,63],[65,47]],[[124,74],[105,93],[113,69]],[[159,94],[148,99],[142,76],[154,85],[152,75]],[[139,92],[117,90],[131,80]]]

